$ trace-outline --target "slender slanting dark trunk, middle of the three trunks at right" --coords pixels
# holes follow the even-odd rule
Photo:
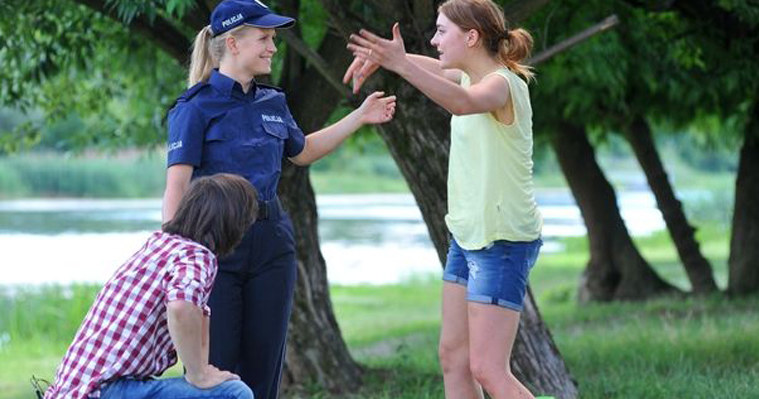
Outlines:
[[[682,204],[675,196],[672,185],[669,183],[667,172],[664,170],[664,165],[656,150],[648,122],[643,117],[638,116],[626,133],[626,138],[632,146],[635,157],[646,174],[648,185],[656,197],[656,203],[688,274],[693,292],[708,294],[717,291],[712,266],[701,254],[698,242],[694,237],[696,230],[688,223]]]

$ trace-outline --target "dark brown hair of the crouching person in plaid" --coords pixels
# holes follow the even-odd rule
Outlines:
[[[232,252],[258,215],[256,189],[228,173],[195,179],[163,231],[202,244],[217,256]]]

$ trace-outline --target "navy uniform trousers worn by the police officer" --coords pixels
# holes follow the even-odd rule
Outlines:
[[[256,223],[219,260],[211,307],[209,362],[237,373],[256,399],[276,399],[297,273],[290,218],[261,203]]]

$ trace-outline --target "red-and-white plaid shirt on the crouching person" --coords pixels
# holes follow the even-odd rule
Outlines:
[[[95,298],[63,357],[46,399],[100,397],[119,377],[150,378],[177,362],[166,304],[207,306],[216,257],[183,237],[155,232]]]

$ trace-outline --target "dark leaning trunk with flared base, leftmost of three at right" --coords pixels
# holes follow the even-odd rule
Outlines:
[[[588,229],[590,261],[580,282],[579,299],[641,300],[677,292],[635,247],[585,128],[563,123],[551,138],[551,145]]]

